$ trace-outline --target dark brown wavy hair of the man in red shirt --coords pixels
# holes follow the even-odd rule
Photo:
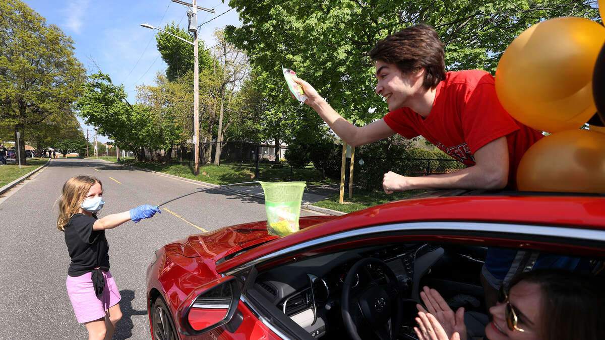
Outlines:
[[[411,26],[382,39],[370,51],[370,58],[395,64],[404,74],[424,68],[422,86],[427,90],[445,79],[443,44],[429,25]]]

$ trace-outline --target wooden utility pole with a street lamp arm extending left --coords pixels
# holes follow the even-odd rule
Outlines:
[[[193,1],[193,7],[195,8],[195,0]],[[197,176],[200,174],[200,163],[199,163],[200,162],[199,161],[199,159],[200,159],[200,143],[199,143],[200,134],[198,133],[198,129],[200,128],[200,117],[198,117],[200,99],[198,98],[199,70],[198,70],[198,58],[197,58],[197,11],[190,12],[190,13],[191,13],[191,15],[189,15],[189,13],[188,13],[188,15],[189,15],[189,31],[192,31],[194,33],[193,42],[187,41],[187,40],[181,38],[180,36],[175,36],[172,33],[168,33],[165,30],[162,30],[157,27],[153,27],[152,25],[149,25],[149,24],[141,24],[141,26],[162,31],[168,35],[174,36],[174,38],[181,39],[182,41],[186,42],[187,44],[193,45],[193,58],[194,58],[194,67],[193,67],[194,136],[193,136],[193,143],[194,143],[194,158],[195,158],[195,167],[194,167],[193,174],[194,174],[194,176]],[[193,19],[193,24],[191,23],[192,19]]]

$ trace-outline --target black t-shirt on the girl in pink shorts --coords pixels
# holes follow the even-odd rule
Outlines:
[[[105,230],[93,230],[94,217],[76,214],[65,226],[65,244],[70,253],[69,276],[80,276],[99,267],[110,270],[110,245]]]

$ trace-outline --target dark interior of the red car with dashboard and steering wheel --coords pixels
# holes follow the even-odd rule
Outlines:
[[[255,269],[244,294],[299,338],[417,339],[416,304],[428,286],[454,311],[465,307],[469,339],[479,338],[489,322],[480,283],[486,252],[462,243],[337,247]],[[605,272],[599,259],[581,261],[581,270]]]

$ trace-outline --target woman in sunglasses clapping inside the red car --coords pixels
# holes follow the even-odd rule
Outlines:
[[[560,269],[521,273],[500,288],[485,327],[489,340],[605,339],[605,286],[595,278]],[[465,340],[464,309],[456,313],[437,290],[424,287],[417,305],[420,340]]]

